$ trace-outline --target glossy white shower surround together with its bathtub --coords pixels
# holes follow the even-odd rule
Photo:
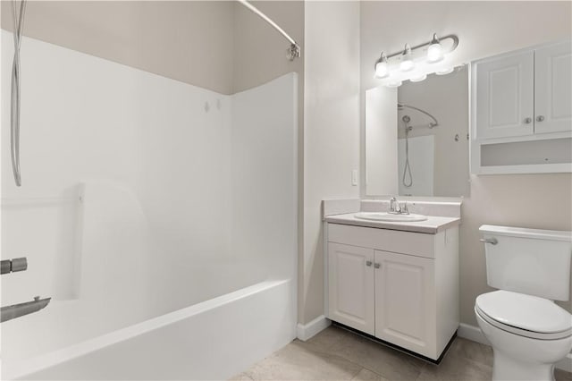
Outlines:
[[[229,96],[32,38],[21,65],[2,301],[53,299],[3,324],[3,379],[230,377],[292,340],[297,75]]]

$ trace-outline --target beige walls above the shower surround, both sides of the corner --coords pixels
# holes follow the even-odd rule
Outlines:
[[[252,4],[303,47],[303,2]],[[12,30],[12,2],[1,6]],[[24,35],[223,94],[303,74],[290,43],[234,1],[29,1]]]

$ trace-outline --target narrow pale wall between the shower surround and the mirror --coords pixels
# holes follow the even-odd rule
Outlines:
[[[359,6],[306,3],[304,248],[299,321],[324,314],[322,199],[357,198],[359,166]]]

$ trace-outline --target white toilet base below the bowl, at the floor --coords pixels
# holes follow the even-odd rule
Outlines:
[[[519,361],[494,348],[492,353],[494,361],[492,381],[554,381],[554,365],[552,364]]]

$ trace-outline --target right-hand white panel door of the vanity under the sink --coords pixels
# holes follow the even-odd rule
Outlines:
[[[375,337],[434,356],[434,259],[375,250]]]

